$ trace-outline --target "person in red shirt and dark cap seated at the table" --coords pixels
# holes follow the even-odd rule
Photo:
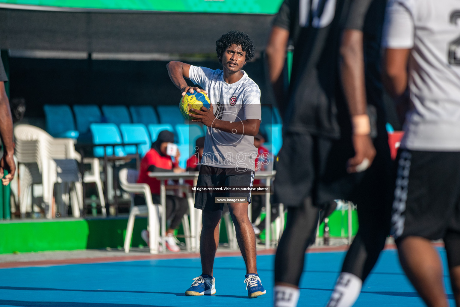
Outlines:
[[[167,146],[174,143],[174,134],[164,130],[158,134],[158,138],[152,144],[152,148],[148,151],[141,160],[138,183],[146,183],[150,186],[152,192],[152,200],[154,203],[160,203],[160,180],[149,177],[149,172],[183,172],[184,169],[178,167],[180,153],[177,151],[175,159],[167,155]],[[144,204],[144,197],[136,195],[134,204]],[[166,196],[166,219],[171,220],[167,228],[166,247],[172,252],[178,252],[180,249],[174,238],[174,230],[178,228],[182,217],[187,214],[189,203],[184,197],[175,195]],[[148,240],[148,232],[143,231],[142,237],[146,242]]]

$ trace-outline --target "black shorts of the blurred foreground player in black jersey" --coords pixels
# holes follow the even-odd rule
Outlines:
[[[358,205],[370,203],[384,209],[388,219],[394,189],[394,163],[386,132],[374,139],[376,156],[364,172],[348,174],[346,164],[354,156],[351,135],[329,139],[309,133],[285,133],[274,182],[276,201],[298,207],[306,197],[314,206],[334,199]],[[383,212],[382,211],[382,212]]]

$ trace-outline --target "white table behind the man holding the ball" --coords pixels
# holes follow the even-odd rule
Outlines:
[[[255,172],[255,179],[267,179],[266,186],[271,185],[271,179],[275,176],[276,171],[263,171]],[[192,179],[194,184],[198,179],[198,172],[185,172],[185,173],[173,173],[173,172],[149,172],[149,177],[160,180],[160,204],[161,204],[161,243],[163,244],[163,253],[166,253],[166,188],[165,181],[167,180],[178,180],[178,179]],[[280,216],[284,216],[283,212],[280,212]],[[271,204],[270,204],[270,189],[265,193],[265,248],[270,248],[270,220],[271,220]],[[282,219],[284,220],[284,219]],[[198,240],[198,233],[196,232],[196,219],[194,212],[190,212],[190,235],[192,240]],[[284,225],[282,225],[283,227]],[[194,244],[197,246],[197,244]]]

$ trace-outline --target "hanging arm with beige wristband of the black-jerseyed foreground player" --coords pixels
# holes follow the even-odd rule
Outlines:
[[[355,156],[348,160],[349,173],[364,171],[372,164],[376,154],[370,138],[370,122],[367,114],[362,38],[362,31],[346,29],[340,45],[341,79],[353,125],[355,149]]]

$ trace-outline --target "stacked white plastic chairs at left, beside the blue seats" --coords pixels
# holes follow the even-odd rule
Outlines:
[[[63,209],[62,202],[68,203],[66,199],[67,190],[71,189],[70,203],[72,213],[75,217],[80,216],[83,208],[81,178],[78,170],[77,161],[81,161],[81,156],[75,151],[74,140],[55,139],[44,130],[31,125],[18,125],[14,128],[16,141],[15,155],[20,164],[20,185],[23,191],[20,195],[20,212],[24,216],[30,195],[32,184],[42,184],[43,203],[46,207],[46,217],[52,218],[52,197],[54,185],[57,185],[56,203]],[[22,165],[25,167],[23,167]],[[98,177],[98,180],[94,177]],[[88,176],[85,182],[96,182],[101,187],[99,172],[93,178]],[[94,180],[94,181],[91,181]],[[97,182],[99,181],[99,182]],[[98,189],[99,190],[99,189]],[[64,197],[63,197],[64,196]],[[100,193],[101,205],[105,207],[104,197]],[[104,208],[105,209],[105,208]],[[103,209],[103,212],[105,210]]]

